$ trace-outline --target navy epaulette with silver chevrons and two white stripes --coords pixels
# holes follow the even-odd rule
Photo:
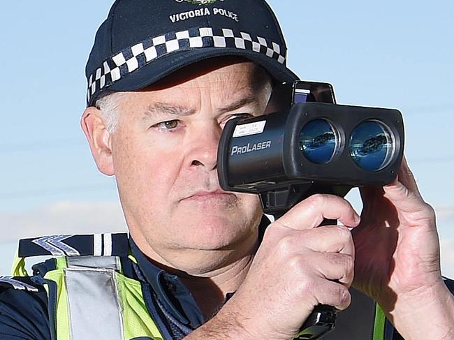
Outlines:
[[[128,256],[126,232],[91,235],[50,235],[21,239],[19,257],[31,256]]]

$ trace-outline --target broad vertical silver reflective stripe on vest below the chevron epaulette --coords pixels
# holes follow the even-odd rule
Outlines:
[[[64,272],[71,340],[124,340],[115,271],[68,267]]]

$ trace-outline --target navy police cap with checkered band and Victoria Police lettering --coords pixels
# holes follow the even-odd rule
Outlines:
[[[277,82],[298,77],[286,67],[286,43],[264,0],[117,0],[91,49],[87,105],[110,91],[136,91],[195,62],[240,56]]]

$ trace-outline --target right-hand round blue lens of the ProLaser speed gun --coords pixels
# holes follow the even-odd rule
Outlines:
[[[388,165],[395,145],[388,128],[379,121],[365,121],[353,130],[350,154],[363,170],[376,172]]]

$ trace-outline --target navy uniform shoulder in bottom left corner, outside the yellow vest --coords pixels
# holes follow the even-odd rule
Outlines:
[[[0,339],[50,339],[47,295],[29,277],[0,276]]]

